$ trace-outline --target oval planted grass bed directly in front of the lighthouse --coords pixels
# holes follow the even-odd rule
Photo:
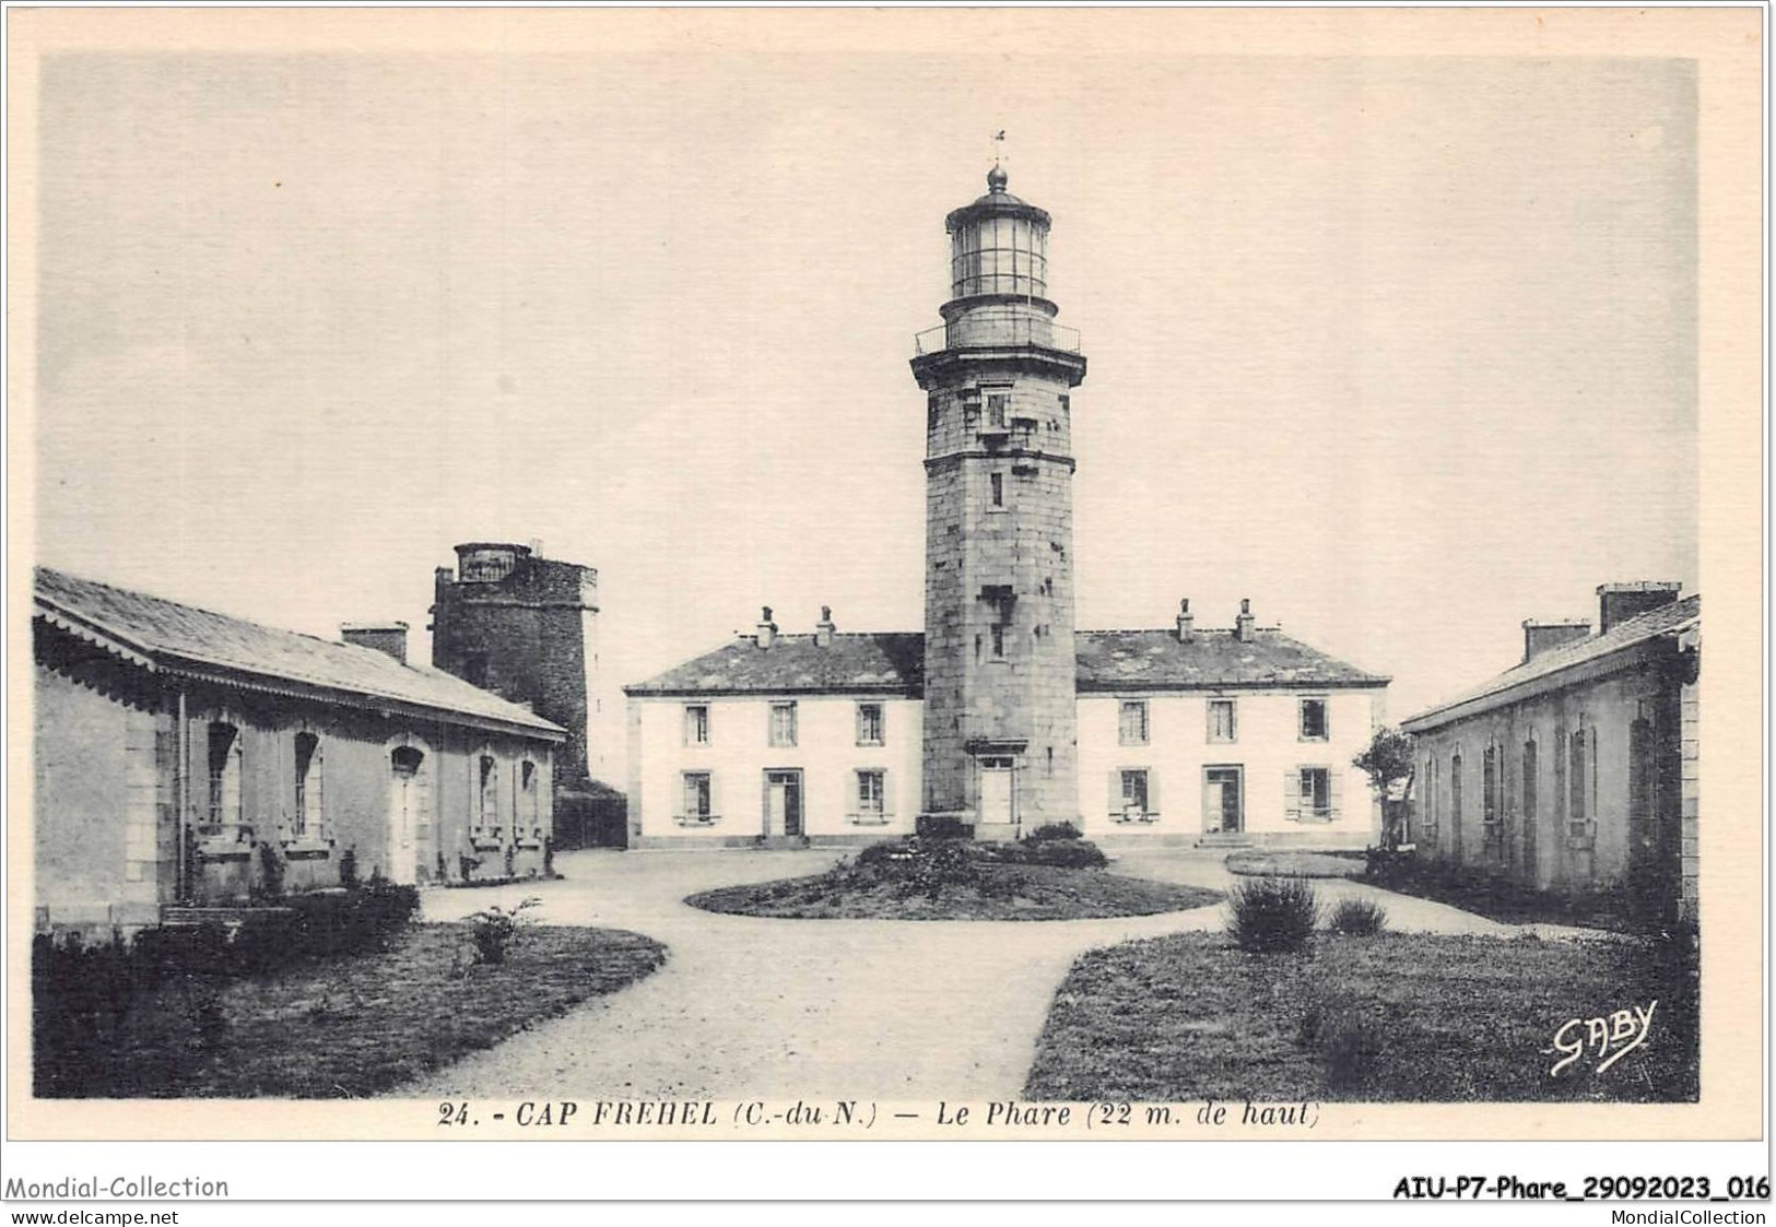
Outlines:
[[[941,883],[932,895],[842,865],[813,877],[725,886],[686,902],[705,911],[787,920],[1089,920],[1206,907],[1220,898],[1195,886],[1051,865],[979,865],[977,881]]]

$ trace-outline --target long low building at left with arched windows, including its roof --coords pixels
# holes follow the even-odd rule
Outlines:
[[[377,630],[329,643],[39,568],[39,927],[337,886],[346,854],[396,883],[540,874],[563,732]]]

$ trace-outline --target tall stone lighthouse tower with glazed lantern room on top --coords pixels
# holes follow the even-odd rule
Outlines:
[[[945,218],[950,300],[925,389],[927,819],[975,838],[1078,822],[1071,389],[1078,334],[1048,298],[1046,211],[1005,190]]]

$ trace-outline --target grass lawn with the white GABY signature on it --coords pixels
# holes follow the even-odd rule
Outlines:
[[[1648,1039],[1559,1074],[1568,1019],[1657,1000]],[[1584,1037],[1574,1026],[1566,1041]],[[1254,955],[1225,934],[1092,950],[1055,993],[1025,1097],[1069,1101],[1694,1101],[1680,941],[1382,934]]]

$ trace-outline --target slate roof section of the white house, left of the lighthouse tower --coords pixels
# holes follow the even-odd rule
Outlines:
[[[627,694],[899,694],[925,693],[925,636],[916,632],[780,634],[769,648],[733,639],[675,669],[625,685]]]

